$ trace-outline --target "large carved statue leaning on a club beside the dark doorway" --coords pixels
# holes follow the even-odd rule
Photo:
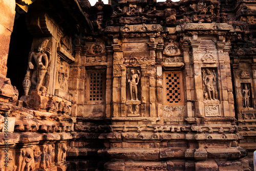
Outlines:
[[[49,39],[42,41],[36,50],[29,53],[28,70],[23,81],[26,96],[28,95],[30,86],[32,86],[32,89],[41,89],[41,91],[46,92],[46,88],[41,85],[46,75],[51,57],[50,49],[46,49],[48,41]]]

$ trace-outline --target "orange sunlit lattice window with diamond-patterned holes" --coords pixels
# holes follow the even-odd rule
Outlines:
[[[182,77],[181,72],[165,73],[165,103],[182,103]]]

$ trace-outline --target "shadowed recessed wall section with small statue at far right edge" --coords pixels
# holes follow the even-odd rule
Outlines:
[[[236,22],[232,26],[237,36],[230,53],[232,81],[236,99],[236,112],[240,145],[248,150],[247,160],[252,163],[255,151],[255,11],[252,2],[237,2]]]

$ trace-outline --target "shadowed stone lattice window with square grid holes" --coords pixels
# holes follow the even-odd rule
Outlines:
[[[102,100],[103,96],[103,74],[91,73],[90,74],[90,101]]]

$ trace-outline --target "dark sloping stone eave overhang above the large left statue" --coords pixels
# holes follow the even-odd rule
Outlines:
[[[76,0],[67,1],[51,1],[51,0],[37,0],[29,6],[28,14],[28,28],[34,30],[29,23],[32,18],[39,18],[42,15],[47,15],[55,20],[63,29],[69,30],[73,33],[87,33],[93,31],[93,26],[87,16],[84,14]],[[32,19],[33,20],[33,19]],[[39,19],[40,20],[40,19]],[[38,31],[33,31],[32,34],[40,34],[41,27],[37,27]]]

